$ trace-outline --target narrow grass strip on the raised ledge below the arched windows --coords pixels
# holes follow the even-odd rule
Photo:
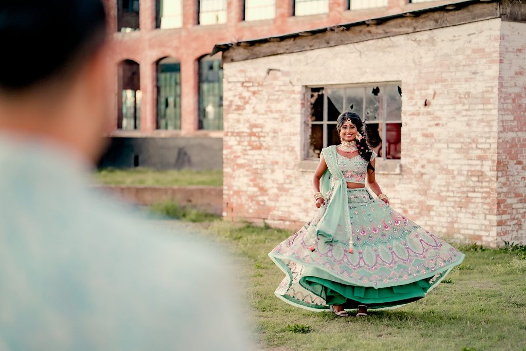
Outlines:
[[[158,171],[149,168],[100,169],[95,179],[104,185],[150,185],[150,186],[221,186],[223,171],[194,171],[191,169],[172,169]]]

